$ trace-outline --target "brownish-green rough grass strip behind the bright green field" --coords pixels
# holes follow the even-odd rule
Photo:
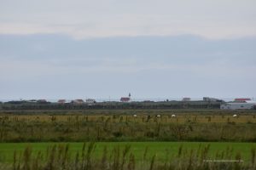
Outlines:
[[[156,112],[158,113],[158,112]],[[211,118],[210,118],[211,117]],[[209,121],[211,119],[211,121]],[[229,119],[229,121],[227,121]],[[0,116],[0,142],[256,141],[252,115]]]

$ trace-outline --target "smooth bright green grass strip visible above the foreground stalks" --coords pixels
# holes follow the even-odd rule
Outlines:
[[[67,143],[2,143],[0,144],[0,156],[2,162],[13,161],[15,150],[17,153],[21,153],[26,146],[32,147],[32,152],[37,153],[41,151],[45,153],[47,147],[54,144],[67,144]],[[82,150],[83,143],[68,143],[70,144],[70,150],[72,156],[75,156],[77,151]],[[229,154],[234,158],[237,153],[241,153],[241,158],[244,161],[249,161],[251,156],[251,150],[256,147],[255,143],[224,143],[224,142],[98,142],[93,152],[94,157],[100,158],[102,156],[102,150],[107,146],[108,151],[111,152],[114,147],[119,146],[120,150],[125,148],[125,145],[131,145],[131,152],[135,155],[137,161],[143,159],[145,149],[148,147],[148,160],[151,159],[154,154],[157,161],[166,161],[166,159],[172,159],[173,156],[177,156],[180,146],[183,146],[183,151],[190,152],[190,150],[198,150],[199,147],[203,148],[210,144],[209,158],[214,158],[217,153],[224,153],[229,148]],[[232,151],[233,150],[233,151]]]

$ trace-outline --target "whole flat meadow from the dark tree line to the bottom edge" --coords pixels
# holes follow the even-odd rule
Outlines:
[[[4,111],[0,162],[15,170],[253,169],[255,129],[255,111]]]

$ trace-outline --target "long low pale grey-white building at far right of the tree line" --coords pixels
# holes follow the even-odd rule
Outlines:
[[[220,105],[221,110],[250,110],[254,109],[254,103],[225,103]]]

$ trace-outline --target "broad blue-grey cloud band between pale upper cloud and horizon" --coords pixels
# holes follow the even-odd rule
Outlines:
[[[255,37],[0,35],[0,94],[17,98],[255,96]],[[246,88],[245,88],[246,87]]]

